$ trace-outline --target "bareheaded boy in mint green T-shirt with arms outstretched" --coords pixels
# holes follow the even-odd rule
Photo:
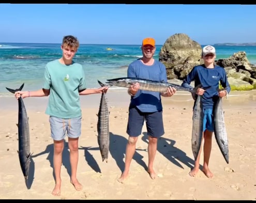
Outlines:
[[[62,41],[62,57],[50,61],[44,71],[42,89],[37,91],[17,91],[14,96],[41,97],[49,96],[46,114],[50,115],[51,137],[53,139],[53,168],[55,187],[52,195],[61,195],[61,166],[64,149],[64,138],[68,136],[71,166],[70,182],[78,191],[83,185],[77,179],[78,140],[81,135],[82,111],[80,96],[107,92],[108,87],[86,89],[83,66],[72,59],[77,53],[79,41],[76,37],[65,36]]]

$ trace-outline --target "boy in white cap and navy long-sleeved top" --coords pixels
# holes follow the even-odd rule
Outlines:
[[[203,119],[203,138],[204,139],[204,162],[203,172],[208,178],[213,177],[213,173],[209,170],[210,151],[212,150],[212,136],[214,132],[213,127],[213,109],[217,102],[218,97],[227,96],[230,92],[230,86],[227,75],[223,67],[214,65],[216,58],[216,51],[213,46],[207,45],[203,47],[202,59],[204,64],[194,66],[191,72],[184,79],[182,86],[191,87],[189,84],[194,81],[194,86],[202,84],[201,88],[198,88],[197,93],[192,95],[193,99],[197,100],[197,95],[202,96],[202,105],[204,111]],[[218,91],[219,83],[225,89]],[[192,88],[192,87],[191,87]],[[195,104],[195,102],[194,102]],[[194,106],[193,106],[194,107]],[[197,175],[199,171],[199,160],[202,146],[199,150],[198,158],[195,160],[194,168],[190,171],[190,176]]]

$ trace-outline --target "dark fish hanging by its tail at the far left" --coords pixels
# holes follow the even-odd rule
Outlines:
[[[16,91],[21,91],[24,86],[24,83],[19,89],[12,90],[6,88],[11,93]],[[31,153],[30,153],[30,138],[29,138],[29,125],[26,108],[21,97],[18,98],[19,104],[19,118],[18,118],[18,137],[19,137],[19,160],[21,165],[21,170],[24,175],[25,180],[28,179],[29,166],[31,163]]]

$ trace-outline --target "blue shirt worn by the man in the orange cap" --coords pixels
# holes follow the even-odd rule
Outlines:
[[[127,69],[127,77],[167,82],[165,66],[157,60],[152,65],[145,65],[140,59],[131,62]],[[161,111],[160,92],[138,90],[134,96],[131,96],[130,105],[136,106],[141,112]]]

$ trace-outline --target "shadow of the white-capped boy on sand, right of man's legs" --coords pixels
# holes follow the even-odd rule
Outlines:
[[[142,140],[148,144],[147,132],[143,132],[142,134],[143,134]],[[160,137],[157,142],[157,150],[159,151],[159,153],[161,153],[165,158],[167,158],[176,166],[184,169],[182,164],[180,164],[180,162],[182,162],[183,164],[188,166],[190,169],[192,169],[194,166],[194,160],[188,157],[183,150],[180,150],[179,148],[175,147],[174,146],[175,143],[176,141],[174,140]],[[142,149],[137,149],[137,150],[142,150]]]

